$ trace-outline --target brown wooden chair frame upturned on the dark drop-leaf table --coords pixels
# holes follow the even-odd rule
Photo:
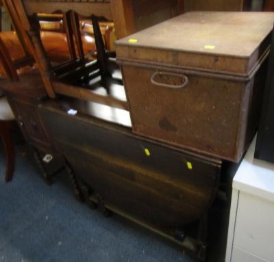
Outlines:
[[[37,3],[39,3],[37,5]],[[34,18],[30,19],[34,12],[45,10],[47,13],[54,12],[57,8],[54,3],[58,3],[58,9],[64,14],[64,27],[67,34],[69,51],[71,60],[53,66],[49,60],[49,56],[45,51],[45,46],[40,40],[40,31],[38,21]],[[112,70],[115,66],[114,62],[109,62],[103,38],[99,29],[99,24],[96,16],[92,16],[92,24],[95,31],[95,41],[97,46],[97,57],[95,61],[90,61],[90,58],[84,53],[83,42],[81,39],[81,31],[79,28],[79,15],[83,16],[89,12],[88,7],[92,8],[92,3],[75,2],[73,6],[67,5],[67,2],[53,1],[6,1],[10,14],[15,21],[16,27],[23,34],[23,38],[29,50],[34,55],[42,79],[45,83],[47,93],[51,98],[55,98],[58,94],[75,96],[79,99],[96,101],[98,103],[108,104],[110,101],[115,101],[117,107],[127,107],[125,101],[121,101],[112,96],[111,90],[107,90],[108,96],[98,94],[94,90],[94,83],[97,81],[99,85],[107,85],[112,79]],[[86,5],[88,4],[88,5]],[[103,3],[103,5],[106,5]],[[85,6],[85,8],[84,8]],[[97,3],[95,3],[97,6]],[[67,10],[73,8],[73,10]],[[84,8],[84,9],[83,9]],[[88,10],[87,10],[88,9]],[[96,10],[92,9],[92,12]],[[99,12],[99,11],[98,11]],[[101,14],[101,12],[99,12]],[[112,64],[110,68],[109,64]],[[98,80],[98,78],[101,79]],[[102,83],[103,82],[103,83]],[[105,86],[104,86],[105,87]],[[92,90],[93,89],[93,90]],[[111,89],[111,86],[106,87]]]

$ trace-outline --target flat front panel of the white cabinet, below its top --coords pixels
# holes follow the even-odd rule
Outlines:
[[[273,202],[245,192],[240,192],[234,233],[234,246],[266,261],[273,262],[273,218]],[[233,253],[234,250],[232,257],[235,256]]]

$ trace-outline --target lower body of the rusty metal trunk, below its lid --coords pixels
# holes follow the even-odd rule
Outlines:
[[[134,83],[127,88],[134,133],[238,161],[258,125],[264,77],[233,82],[188,75],[186,87],[171,89],[153,85],[153,73],[135,66],[123,70],[125,83]]]

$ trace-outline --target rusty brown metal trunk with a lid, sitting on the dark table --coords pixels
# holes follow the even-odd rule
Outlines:
[[[260,117],[273,20],[191,12],[119,40],[134,133],[239,161]]]

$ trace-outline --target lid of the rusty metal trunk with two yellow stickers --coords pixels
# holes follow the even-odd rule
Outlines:
[[[248,74],[273,21],[271,12],[189,12],[116,41],[117,57]]]

